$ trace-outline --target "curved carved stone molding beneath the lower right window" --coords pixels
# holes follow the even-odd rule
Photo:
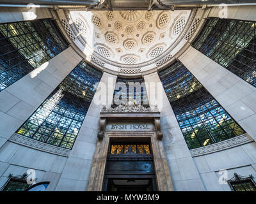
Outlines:
[[[212,145],[192,149],[190,152],[192,157],[197,157],[205,154],[211,154],[213,152],[219,152],[225,149],[230,149],[232,147],[237,147],[249,142],[253,142],[252,138],[250,138],[247,134],[244,134],[235,136],[234,138],[230,138],[222,142],[214,143]]]

